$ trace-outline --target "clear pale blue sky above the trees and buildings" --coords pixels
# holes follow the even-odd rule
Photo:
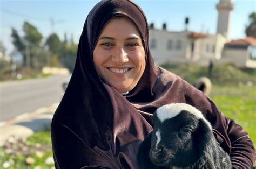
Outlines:
[[[185,29],[185,18],[190,18],[188,31],[215,34],[219,0],[133,0],[145,12],[149,23],[161,29],[167,24],[169,31]],[[99,1],[94,0],[0,0],[0,41],[7,49],[14,50],[11,28],[23,36],[24,21],[37,27],[45,40],[52,32],[63,40],[64,33],[78,43],[85,19]],[[235,5],[230,23],[230,39],[245,38],[248,16],[256,12],[256,0],[233,0]],[[52,22],[53,21],[53,22]],[[51,24],[54,23],[54,24]]]

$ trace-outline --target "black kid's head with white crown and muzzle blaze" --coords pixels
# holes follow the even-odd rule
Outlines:
[[[158,166],[192,165],[200,154],[195,137],[200,137],[196,133],[201,120],[211,130],[210,123],[191,105],[177,103],[157,109],[152,117],[151,161]]]

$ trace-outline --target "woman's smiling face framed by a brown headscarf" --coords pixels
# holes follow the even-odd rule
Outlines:
[[[100,77],[119,93],[132,90],[146,65],[137,27],[125,17],[111,19],[93,50],[93,62]]]

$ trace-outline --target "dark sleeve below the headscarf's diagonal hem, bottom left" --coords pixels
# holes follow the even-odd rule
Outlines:
[[[104,154],[100,154],[64,125],[52,125],[52,150],[58,168],[112,168]]]

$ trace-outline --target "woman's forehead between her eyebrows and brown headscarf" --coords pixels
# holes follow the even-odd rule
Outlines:
[[[100,36],[138,36],[140,33],[137,26],[126,17],[114,17],[103,27]]]

